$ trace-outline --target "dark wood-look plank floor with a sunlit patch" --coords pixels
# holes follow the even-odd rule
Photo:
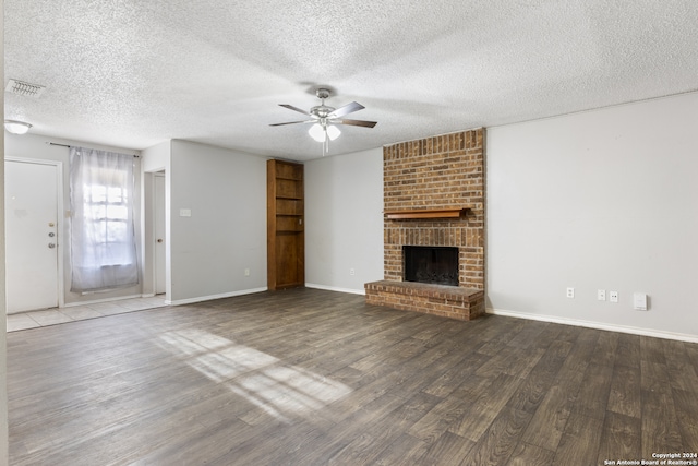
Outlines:
[[[8,334],[12,465],[698,453],[698,345],[292,289]]]

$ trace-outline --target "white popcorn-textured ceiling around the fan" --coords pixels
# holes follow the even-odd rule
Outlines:
[[[696,0],[5,0],[5,119],[141,150],[321,156],[277,104],[357,100],[330,154],[698,89]],[[5,81],[7,82],[7,81]],[[300,118],[299,118],[300,117]]]

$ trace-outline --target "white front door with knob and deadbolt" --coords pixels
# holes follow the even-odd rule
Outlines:
[[[8,313],[58,307],[58,174],[40,163],[4,164]]]

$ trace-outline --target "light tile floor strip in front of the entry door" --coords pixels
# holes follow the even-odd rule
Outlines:
[[[167,306],[165,299],[155,296],[152,298],[122,299],[119,301],[98,302],[70,308],[52,308],[41,311],[22,312],[8,315],[8,332],[83,321],[85,319],[101,318],[104,315],[123,314],[125,312],[142,311],[144,309],[160,308],[164,306]]]

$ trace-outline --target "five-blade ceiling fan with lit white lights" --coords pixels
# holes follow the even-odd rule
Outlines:
[[[334,108],[325,105],[325,99],[329,97],[329,89],[321,87],[315,91],[315,95],[321,99],[321,104],[311,108],[310,111],[305,111],[298,107],[293,107],[288,104],[279,104],[281,107],[286,107],[289,110],[298,111],[299,113],[306,115],[310,120],[289,121],[286,123],[274,123],[270,127],[280,127],[284,124],[297,124],[297,123],[314,123],[308,133],[317,142],[323,143],[323,155],[329,148],[329,141],[336,140],[341,131],[337,128],[337,124],[350,124],[352,127],[373,128],[376,126],[375,121],[365,120],[349,120],[342,118],[345,115],[352,113],[364,109],[365,107],[359,103],[352,101],[339,108]]]

